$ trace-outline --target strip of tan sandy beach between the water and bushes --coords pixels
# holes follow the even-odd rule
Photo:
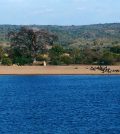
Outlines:
[[[107,66],[112,71],[103,72],[93,65],[69,66],[0,66],[0,75],[120,75],[120,66]]]

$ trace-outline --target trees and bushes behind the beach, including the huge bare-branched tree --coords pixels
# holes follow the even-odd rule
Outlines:
[[[94,41],[94,47],[87,44],[83,48],[66,48],[55,44],[58,40],[55,34],[28,27],[10,32],[8,39],[10,47],[0,47],[0,61],[3,65],[32,65],[40,61],[52,65],[120,63],[119,45],[103,48]]]

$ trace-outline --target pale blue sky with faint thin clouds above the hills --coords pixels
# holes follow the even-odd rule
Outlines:
[[[0,24],[117,23],[119,7],[120,0],[0,0]]]

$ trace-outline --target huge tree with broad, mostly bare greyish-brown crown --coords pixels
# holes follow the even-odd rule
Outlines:
[[[48,46],[57,40],[57,36],[52,33],[28,27],[9,33],[9,38],[15,57],[31,57],[33,60],[38,53],[47,51]]]

